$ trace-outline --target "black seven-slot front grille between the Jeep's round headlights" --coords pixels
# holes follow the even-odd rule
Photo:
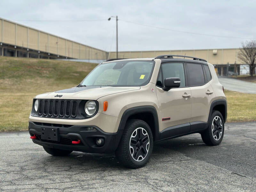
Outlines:
[[[39,99],[36,116],[53,118],[76,118],[78,100]]]

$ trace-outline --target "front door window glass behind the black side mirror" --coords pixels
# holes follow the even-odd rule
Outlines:
[[[168,77],[180,77],[180,87],[185,87],[183,63],[164,63],[162,64],[162,73],[164,79]]]

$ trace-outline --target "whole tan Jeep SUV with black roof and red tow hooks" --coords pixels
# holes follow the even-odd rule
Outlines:
[[[200,133],[206,145],[219,145],[226,119],[212,64],[161,55],[103,62],[78,86],[37,95],[28,129],[51,155],[115,152],[124,166],[139,168],[155,141]]]

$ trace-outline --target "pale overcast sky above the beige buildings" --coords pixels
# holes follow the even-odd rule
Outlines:
[[[0,7],[4,19],[105,51],[116,50],[116,20],[107,20],[112,15],[120,19],[119,51],[238,48],[256,39],[256,1],[1,0]]]

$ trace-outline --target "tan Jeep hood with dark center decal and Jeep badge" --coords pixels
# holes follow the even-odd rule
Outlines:
[[[140,87],[87,86],[73,87],[36,96],[36,99],[85,99],[97,100],[100,97],[120,92],[139,90]]]

